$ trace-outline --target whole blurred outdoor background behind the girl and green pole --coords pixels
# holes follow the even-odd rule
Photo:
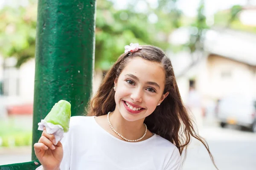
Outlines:
[[[31,160],[37,0],[0,1],[0,165]],[[130,42],[172,60],[220,170],[256,170],[256,0],[97,0],[93,93]],[[215,170],[193,140],[183,170]]]

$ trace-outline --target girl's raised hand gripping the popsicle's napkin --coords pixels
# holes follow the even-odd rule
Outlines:
[[[61,142],[54,145],[55,137],[44,131],[38,143],[34,144],[35,155],[43,165],[44,170],[59,170],[63,158],[63,147]]]

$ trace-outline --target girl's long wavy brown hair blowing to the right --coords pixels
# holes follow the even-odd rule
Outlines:
[[[139,51],[122,54],[105,75],[99,86],[99,90],[89,101],[87,116],[102,116],[115,110],[114,79],[119,77],[129,59],[133,57],[141,57],[148,61],[161,63],[166,72],[163,94],[169,92],[169,95],[163,100],[160,106],[157,106],[151,115],[145,118],[144,123],[148,126],[148,130],[175,144],[180,151],[180,155],[184,149],[186,150],[192,137],[198,139],[206,147],[215,165],[207,142],[198,135],[194,127],[194,122],[189,117],[189,113],[182,102],[172,63],[160,48],[151,45],[142,45],[142,49]]]

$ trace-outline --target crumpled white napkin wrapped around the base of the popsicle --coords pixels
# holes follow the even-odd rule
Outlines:
[[[55,136],[56,142],[54,145],[56,145],[63,138],[64,130],[61,125],[53,125],[52,123],[46,122],[42,119],[41,122],[38,123],[38,130],[44,130],[44,127],[46,127],[47,133]]]

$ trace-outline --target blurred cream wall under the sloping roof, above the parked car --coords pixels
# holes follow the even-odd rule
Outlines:
[[[212,55],[207,70],[209,79],[204,80],[209,81],[206,95],[216,98],[228,94],[256,95],[256,67]]]

